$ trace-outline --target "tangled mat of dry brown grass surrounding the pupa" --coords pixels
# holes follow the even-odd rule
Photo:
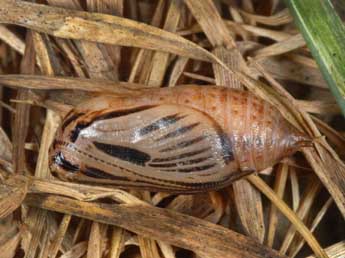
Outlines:
[[[282,2],[37,2],[0,1],[2,258],[345,257],[344,120]],[[180,84],[250,90],[314,146],[197,195],[52,178],[74,105]]]

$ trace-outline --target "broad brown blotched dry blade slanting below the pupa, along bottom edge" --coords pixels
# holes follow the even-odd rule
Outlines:
[[[65,197],[39,195],[27,198],[26,203],[30,206],[121,226],[144,237],[165,239],[175,246],[214,258],[285,257],[226,228],[171,210],[147,205],[87,203]]]

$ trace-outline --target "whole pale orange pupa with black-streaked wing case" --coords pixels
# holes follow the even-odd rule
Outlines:
[[[147,89],[76,107],[51,147],[51,168],[67,180],[192,193],[270,167],[308,141],[249,92]]]

